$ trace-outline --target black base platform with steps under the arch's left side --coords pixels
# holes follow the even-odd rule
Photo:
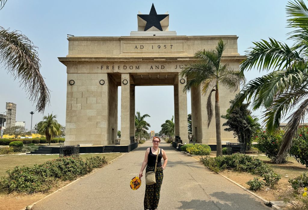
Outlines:
[[[79,153],[107,153],[107,152],[130,152],[137,148],[138,142],[122,146],[122,145],[107,145],[107,146],[81,146]],[[38,150],[27,154],[60,154],[60,147],[40,146]]]

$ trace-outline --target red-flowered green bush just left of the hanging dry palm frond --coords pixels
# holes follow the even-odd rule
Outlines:
[[[284,130],[280,130],[277,134],[271,135],[265,131],[260,131],[255,137],[255,141],[258,142],[257,148],[260,152],[264,153],[273,162],[277,160],[277,154],[281,147],[282,136],[285,133]],[[286,162],[286,157],[282,162]]]

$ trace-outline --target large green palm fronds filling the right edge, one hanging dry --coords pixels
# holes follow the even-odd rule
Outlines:
[[[270,38],[269,41],[253,42],[254,47],[247,51],[240,70],[257,68],[259,71],[273,72],[251,80],[242,89],[234,107],[247,99],[253,101],[253,110],[265,107],[264,123],[269,133],[279,130],[280,120],[295,111],[286,119],[286,133],[278,152],[277,163],[284,159],[292,140],[303,121],[308,108],[308,8],[302,0],[288,2],[286,6],[289,28],[294,29],[287,35],[294,40],[291,47]]]

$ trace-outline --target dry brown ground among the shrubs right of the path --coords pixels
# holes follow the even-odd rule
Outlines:
[[[275,200],[283,200],[284,197],[287,197],[293,192],[293,188],[288,182],[290,178],[298,177],[301,173],[308,173],[308,169],[304,165],[298,163],[294,157],[288,157],[288,162],[285,164],[275,164],[269,158],[261,154],[253,154],[257,155],[257,157],[264,161],[265,163],[270,164],[275,173],[281,175],[281,180],[279,180],[275,189],[267,189],[267,187],[263,187],[263,189],[258,190],[256,192],[257,195],[263,197],[269,201]],[[201,156],[193,157],[197,161]],[[211,157],[215,157],[214,155]],[[245,172],[234,172],[231,170],[225,170],[220,172],[222,175],[228,177],[229,179],[237,182],[238,184],[244,186],[249,189],[249,185],[246,184],[247,181],[253,179],[253,177],[258,177],[257,175],[245,173]],[[262,179],[262,178],[261,178]]]

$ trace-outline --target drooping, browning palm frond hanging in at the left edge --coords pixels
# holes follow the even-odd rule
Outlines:
[[[0,0],[0,10],[6,0]],[[43,76],[36,46],[20,31],[9,31],[0,26],[0,63],[14,79],[21,81],[29,99],[36,103],[36,110],[44,112],[50,93]]]

